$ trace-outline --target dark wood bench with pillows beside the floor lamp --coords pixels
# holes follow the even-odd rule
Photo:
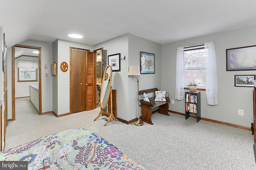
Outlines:
[[[142,96],[144,92],[146,94],[154,92],[154,95],[155,95],[155,91],[158,91],[158,88],[140,90],[139,94]],[[150,100],[150,102],[144,101],[143,99],[140,100],[141,113],[142,113],[141,121],[144,121],[146,123],[149,123],[149,124],[153,125],[153,123],[151,121],[151,115],[152,115],[152,109],[154,109],[156,107],[159,107],[158,113],[170,116],[169,113],[168,113],[168,108],[169,108],[168,103],[170,102],[169,97],[166,97],[166,102],[155,102],[155,96],[150,97],[149,100]]]

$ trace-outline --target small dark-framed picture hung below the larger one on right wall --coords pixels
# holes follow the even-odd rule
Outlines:
[[[253,87],[252,80],[255,80],[255,75],[235,75],[235,86]]]

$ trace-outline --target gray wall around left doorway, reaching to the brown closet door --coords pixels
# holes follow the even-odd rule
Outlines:
[[[58,39],[54,43],[27,40],[21,45],[30,45],[41,47],[41,65],[42,65],[42,112],[54,111],[57,115],[69,113],[69,70],[62,72],[60,63],[70,61],[70,47],[90,49],[92,45],[74,43]],[[12,63],[12,47],[8,48],[8,63]],[[52,76],[52,63],[56,62],[57,76]],[[48,64],[48,68],[44,65]],[[10,65],[10,64],[9,64]],[[45,77],[48,73],[48,77]],[[12,68],[8,67],[8,119],[12,119]],[[68,81],[67,81],[68,80]]]

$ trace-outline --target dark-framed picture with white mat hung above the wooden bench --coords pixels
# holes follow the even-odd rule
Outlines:
[[[155,73],[155,55],[151,53],[140,52],[140,74]]]

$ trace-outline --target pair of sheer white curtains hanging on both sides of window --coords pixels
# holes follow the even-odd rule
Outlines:
[[[208,105],[218,105],[218,84],[214,43],[204,43],[206,54],[206,98]],[[188,48],[186,48],[188,49]],[[184,97],[184,48],[177,48],[175,99]]]

